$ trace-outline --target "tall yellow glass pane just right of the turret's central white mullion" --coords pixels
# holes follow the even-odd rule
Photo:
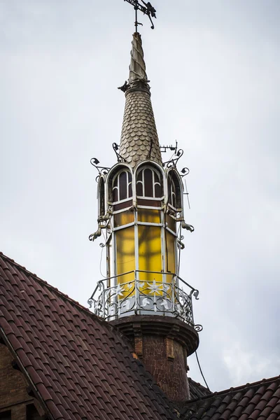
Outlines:
[[[162,283],[162,252],[161,252],[161,228],[158,226],[139,225],[139,270],[159,273],[139,272],[140,281],[148,281],[151,286],[153,281]],[[143,290],[147,293],[147,284]],[[151,294],[153,292],[151,291]],[[160,295],[161,293],[157,293]]]

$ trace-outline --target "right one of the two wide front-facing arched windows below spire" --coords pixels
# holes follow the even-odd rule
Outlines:
[[[137,173],[136,182],[137,197],[161,198],[162,177],[160,173],[151,167],[144,167]]]

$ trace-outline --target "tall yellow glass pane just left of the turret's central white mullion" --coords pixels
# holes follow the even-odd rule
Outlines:
[[[135,269],[135,255],[134,255],[134,226],[118,230],[116,232],[117,244],[117,274],[123,274]],[[118,277],[118,284],[127,283],[134,280],[134,273],[124,274]],[[128,289],[127,289],[128,290]],[[119,298],[127,296],[123,293]]]

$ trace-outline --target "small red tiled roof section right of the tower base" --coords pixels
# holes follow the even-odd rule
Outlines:
[[[213,393],[187,402],[183,420],[276,420],[280,419],[280,377]]]

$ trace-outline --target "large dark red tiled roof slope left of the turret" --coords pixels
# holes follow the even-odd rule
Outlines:
[[[2,254],[0,334],[53,419],[177,419],[120,333]]]

